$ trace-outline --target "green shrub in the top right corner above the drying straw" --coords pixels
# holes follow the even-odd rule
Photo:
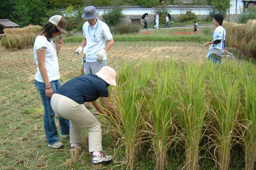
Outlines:
[[[256,5],[250,4],[248,8],[245,8],[241,15],[238,17],[240,24],[245,24],[250,19],[256,19]]]

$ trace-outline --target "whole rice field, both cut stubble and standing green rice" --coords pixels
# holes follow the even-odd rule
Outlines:
[[[150,34],[190,30],[156,31]],[[213,27],[201,31],[195,36],[211,37]],[[107,53],[117,72],[117,86],[109,89],[116,114],[97,116],[104,152],[113,161],[93,166],[85,147],[72,168],[255,169],[255,62],[228,48],[236,60],[214,65],[205,59],[204,43],[116,41]],[[71,59],[80,44],[61,47],[62,83],[81,74],[82,55]],[[60,135],[65,146],[60,150],[46,143],[33,48],[0,47],[0,59],[0,169],[68,169],[68,139]]]

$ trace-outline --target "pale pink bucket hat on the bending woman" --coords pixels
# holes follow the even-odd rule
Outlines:
[[[116,86],[116,72],[110,66],[103,66],[96,75],[108,84]]]

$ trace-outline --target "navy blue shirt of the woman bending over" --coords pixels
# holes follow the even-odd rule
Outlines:
[[[109,97],[108,84],[94,74],[75,77],[63,84],[55,93],[68,97],[78,104]]]

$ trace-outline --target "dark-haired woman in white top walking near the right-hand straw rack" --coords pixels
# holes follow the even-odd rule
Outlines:
[[[219,63],[219,64],[221,64],[221,59],[217,59],[214,56],[211,56],[211,48],[218,47],[222,49],[225,52],[225,54],[228,54],[227,50],[225,49],[226,30],[222,26],[222,22],[223,22],[223,17],[221,14],[214,14],[212,16],[212,23],[216,27],[213,33],[213,40],[211,42],[207,42],[204,44],[206,47],[212,44],[211,47],[209,48],[209,52],[206,58],[211,59],[213,63]]]

